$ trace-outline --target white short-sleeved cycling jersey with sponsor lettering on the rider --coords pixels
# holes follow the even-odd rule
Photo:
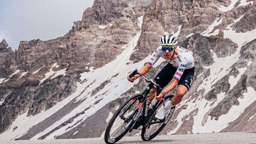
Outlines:
[[[174,79],[180,81],[181,76],[183,75],[185,69],[191,69],[194,67],[194,57],[193,52],[191,50],[184,49],[183,47],[178,46],[178,55],[174,60],[166,59],[165,55],[162,51],[162,47],[159,46],[155,52],[152,53],[151,57],[148,60],[150,65],[154,65],[159,57],[164,58],[167,60],[172,66],[177,68],[175,72]]]

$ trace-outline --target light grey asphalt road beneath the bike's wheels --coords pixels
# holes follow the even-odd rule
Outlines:
[[[104,143],[102,137],[87,139],[55,139],[55,140],[9,140],[1,141],[1,144],[85,144],[85,143]],[[229,133],[204,133],[204,134],[188,134],[188,135],[167,135],[157,136],[149,142],[143,142],[140,137],[123,137],[117,143],[255,143],[256,132],[229,132]]]

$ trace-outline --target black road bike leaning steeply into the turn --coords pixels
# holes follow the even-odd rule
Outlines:
[[[105,130],[105,143],[116,143],[126,135],[127,132],[131,133],[134,129],[138,129],[140,126],[142,126],[142,140],[149,141],[156,137],[171,119],[175,107],[172,107],[168,111],[163,120],[156,119],[155,115],[158,110],[165,105],[165,101],[171,100],[174,95],[164,95],[161,100],[155,101],[155,103],[149,103],[150,89],[155,88],[156,95],[159,95],[162,88],[159,84],[156,84],[153,79],[149,79],[137,72],[137,69],[135,69],[129,76],[132,77],[136,74],[145,78],[146,82],[149,82],[150,84],[141,94],[132,95],[132,97],[128,98],[120,105]]]

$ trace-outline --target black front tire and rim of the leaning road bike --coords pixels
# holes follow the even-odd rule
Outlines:
[[[107,129],[105,130],[105,135],[104,135],[104,140],[105,143],[116,143],[117,141],[119,141],[124,135],[126,135],[126,133],[129,131],[130,127],[132,127],[133,123],[135,123],[135,120],[133,120],[133,117],[136,116],[135,114],[137,113],[137,101],[139,103],[141,103],[143,99],[143,95],[142,94],[135,94],[132,97],[128,98],[128,100],[126,100],[116,111],[116,113],[114,113],[113,117],[111,118],[111,120],[108,123]],[[135,100],[135,101],[133,101]],[[133,103],[131,104],[131,102],[133,101]],[[128,104],[128,105],[127,105]],[[126,107],[127,105],[127,107]],[[129,108],[130,105],[130,108]],[[126,109],[127,108],[127,109]],[[121,111],[124,110],[124,113]],[[130,110],[130,111],[129,111]],[[120,114],[126,114],[126,112],[129,112],[129,116],[127,116],[126,118],[129,121],[125,121],[123,119],[120,118]],[[132,113],[132,114],[130,114]],[[123,116],[122,115],[122,116]],[[121,122],[121,125],[119,127],[116,128],[116,126],[114,125],[115,121],[117,121],[117,117],[119,117],[119,120],[123,120],[123,122]],[[113,126],[114,125],[114,126]],[[127,126],[127,127],[125,127]],[[118,136],[111,136],[111,130],[118,132],[119,129],[124,128],[124,131],[121,132]]]

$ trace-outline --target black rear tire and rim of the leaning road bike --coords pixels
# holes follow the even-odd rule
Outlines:
[[[167,95],[167,96],[165,96],[165,100],[171,99],[173,96],[174,96],[174,95]],[[156,110],[152,112],[151,117],[155,117],[155,114],[156,114],[158,108],[160,108],[160,107],[162,106],[162,103],[163,103],[163,101],[161,101],[161,102],[159,103],[159,105],[158,105],[158,107],[156,108]],[[141,132],[142,140],[144,140],[144,141],[149,141],[149,140],[153,139],[154,137],[156,137],[156,136],[162,131],[162,129],[164,129],[164,127],[167,125],[169,119],[171,119],[171,116],[172,116],[172,113],[174,112],[174,109],[175,109],[175,106],[172,107],[172,108],[169,110],[169,113],[168,113],[167,118],[164,119],[164,120],[162,120],[163,122],[158,123],[158,126],[159,126],[159,127],[156,127],[156,125],[151,126],[150,124],[149,124],[148,127],[144,127],[144,126],[143,126],[143,127],[142,127],[142,132]],[[150,121],[150,122],[151,122],[151,121]],[[153,128],[152,128],[152,127],[153,127]],[[151,129],[151,128],[152,128],[152,129]],[[153,130],[154,128],[155,128],[155,132],[153,132],[152,134],[149,134],[149,135],[148,135],[147,132],[152,132],[152,130]]]

